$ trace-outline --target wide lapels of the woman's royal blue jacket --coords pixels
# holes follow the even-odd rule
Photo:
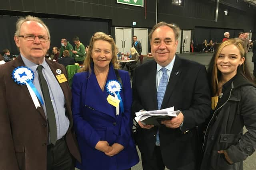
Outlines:
[[[112,64],[110,64],[106,83],[108,82],[108,80],[116,80],[116,74],[114,72]],[[105,88],[104,91],[101,90],[97,78],[94,74],[93,66],[92,73],[88,78],[86,94],[84,95],[86,96],[86,100],[84,103],[86,106],[89,106],[97,111],[110,115],[111,117],[116,117],[116,115],[113,113],[114,106],[110,105],[107,101],[107,97],[109,94],[106,92]]]

